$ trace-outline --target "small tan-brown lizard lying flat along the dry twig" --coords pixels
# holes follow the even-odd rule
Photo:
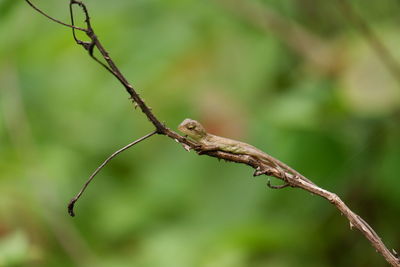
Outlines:
[[[286,173],[289,173],[293,177],[301,178],[308,183],[314,184],[285,163],[250,144],[208,133],[198,121],[185,119],[179,124],[178,130],[193,139],[201,149],[201,152],[222,151],[232,154],[248,155],[271,168],[276,168],[283,174],[282,177],[286,177]],[[257,170],[254,175],[258,176],[265,173],[267,173],[267,171]]]

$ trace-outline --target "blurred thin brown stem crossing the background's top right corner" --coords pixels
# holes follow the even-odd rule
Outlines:
[[[368,41],[371,48],[375,51],[381,59],[386,68],[393,75],[393,77],[400,82],[400,64],[378,38],[374,31],[369,27],[368,23],[358,15],[348,0],[337,0],[344,15],[351,21],[355,28],[357,28],[364,38]]]

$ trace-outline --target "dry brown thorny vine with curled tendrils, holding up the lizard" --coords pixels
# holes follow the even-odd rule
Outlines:
[[[258,161],[257,159],[248,156],[248,155],[238,155],[238,154],[232,154],[232,153],[227,153],[227,152],[222,152],[222,151],[202,151],[201,147],[197,146],[194,142],[190,141],[189,139],[185,138],[184,136],[179,135],[178,133],[172,131],[169,129],[166,125],[161,123],[158,118],[153,114],[151,109],[145,104],[143,99],[139,96],[139,94],[136,92],[134,87],[127,81],[127,79],[123,76],[123,74],[120,72],[118,67],[115,65],[114,61],[111,59],[109,56],[108,52],[106,49],[102,46],[101,42],[99,41],[98,37],[96,36],[91,23],[90,23],[90,17],[89,17],[89,12],[86,7],[86,5],[81,2],[81,1],[76,1],[76,0],[70,0],[69,3],[69,8],[70,8],[70,14],[71,14],[71,24],[67,24],[64,22],[61,22],[57,19],[54,19],[53,17],[47,15],[45,12],[41,11],[39,8],[37,8],[35,5],[33,5],[29,0],[25,0],[32,8],[34,8],[36,11],[41,13],[42,15],[46,16],[48,19],[51,19],[52,21],[55,21],[61,25],[64,25],[66,27],[69,27],[73,31],[73,37],[74,40],[78,45],[81,45],[92,57],[96,62],[101,64],[105,69],[107,69],[111,74],[114,75],[115,78],[117,78],[120,83],[124,86],[128,94],[130,95],[130,98],[132,101],[137,105],[140,110],[145,114],[145,116],[149,119],[149,121],[154,125],[155,130],[154,132],[147,134],[146,136],[143,136],[142,138],[139,138],[138,140],[130,143],[129,145],[123,147],[122,149],[116,151],[113,153],[89,178],[89,180],[86,182],[82,190],[78,193],[78,195],[73,198],[69,205],[68,205],[68,211],[69,213],[73,216],[73,207],[77,199],[81,196],[83,191],[86,189],[87,185],[89,182],[93,179],[93,177],[98,173],[98,171],[106,165],[113,157],[115,157],[117,154],[120,152],[128,149],[129,147],[132,147],[133,145],[150,138],[154,134],[160,134],[160,135],[165,135],[168,136],[169,138],[177,141],[180,143],[186,150],[195,150],[198,154],[205,154],[211,157],[215,157],[218,159],[224,159],[227,161],[231,162],[236,162],[236,163],[243,163],[248,166],[251,166],[254,168],[255,174],[254,175],[260,175],[260,174],[266,174],[268,176],[274,176],[278,179],[281,179],[285,181],[289,186],[291,187],[298,187],[303,190],[306,190],[308,192],[311,192],[312,194],[321,196],[325,199],[327,199],[329,202],[331,202],[333,205],[336,206],[336,208],[344,214],[347,219],[350,222],[350,226],[357,228],[371,243],[371,245],[378,251],[384,258],[385,260],[390,263],[392,266],[400,267],[400,260],[393,250],[393,253],[389,251],[389,249],[385,246],[385,244],[382,242],[381,238],[377,235],[377,233],[371,228],[371,226],[368,225],[360,216],[358,216],[356,213],[354,213],[350,208],[334,193],[329,192],[311,181],[309,181],[306,178],[299,177],[297,175],[293,175],[290,173],[283,173],[281,170],[278,170],[276,168],[271,168],[269,166],[266,166],[264,163]],[[81,8],[85,15],[85,28],[77,27],[74,25],[74,12],[73,12],[73,7],[78,6]],[[81,31],[84,32],[90,39],[90,42],[85,42],[77,38],[75,31]],[[97,58],[93,51],[94,49],[97,49],[100,54],[102,55],[102,58],[105,60],[106,63],[103,63],[99,58]],[[271,188],[276,188],[280,189],[283,188],[282,186],[270,186]]]

